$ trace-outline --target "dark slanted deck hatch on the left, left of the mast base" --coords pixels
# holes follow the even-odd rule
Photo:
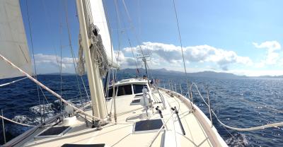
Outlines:
[[[69,126],[50,127],[35,136],[35,138],[62,136],[69,131],[69,129],[71,129]]]

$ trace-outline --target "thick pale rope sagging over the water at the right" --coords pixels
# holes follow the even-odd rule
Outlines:
[[[197,88],[197,84],[195,83],[192,83],[191,86],[195,86],[195,88]],[[207,102],[205,102],[204,98],[202,97],[202,94],[200,93],[200,90],[198,90],[197,88],[197,92],[198,94],[200,95],[200,98],[202,98],[202,100],[204,101],[205,105],[207,105],[208,107],[208,104]],[[267,129],[267,128],[270,128],[270,127],[279,127],[279,126],[283,126],[283,122],[277,122],[277,123],[273,123],[273,124],[265,124],[265,125],[261,125],[261,126],[257,126],[257,127],[248,127],[248,128],[238,128],[238,127],[230,127],[226,124],[224,124],[223,122],[220,121],[220,119],[217,117],[217,115],[215,114],[215,112],[210,109],[212,111],[212,113],[214,114],[214,116],[216,117],[216,120],[224,127],[226,128],[229,128],[229,129],[233,129],[233,130],[236,130],[236,131],[254,131],[254,130],[259,130],[259,129]],[[279,111],[279,110],[277,110]]]

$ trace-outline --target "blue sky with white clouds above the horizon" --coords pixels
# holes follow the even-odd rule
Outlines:
[[[20,3],[30,56],[33,38],[37,73],[59,72],[57,59],[61,50],[63,72],[74,73],[71,49],[77,57],[79,44],[76,1],[20,0]],[[184,71],[173,0],[103,0],[103,3],[121,69],[136,68],[134,57],[141,54],[141,47],[151,56],[150,69]],[[280,0],[175,0],[187,72],[283,75],[282,5]],[[143,67],[140,61],[138,67]]]

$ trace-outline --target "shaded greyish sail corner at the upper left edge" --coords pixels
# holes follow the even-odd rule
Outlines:
[[[31,74],[31,61],[18,0],[0,0],[0,54]],[[0,61],[0,78],[23,76],[4,61]]]

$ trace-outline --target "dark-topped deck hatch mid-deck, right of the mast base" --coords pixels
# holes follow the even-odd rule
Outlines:
[[[134,123],[134,134],[158,131],[162,126],[161,119],[142,120]]]

